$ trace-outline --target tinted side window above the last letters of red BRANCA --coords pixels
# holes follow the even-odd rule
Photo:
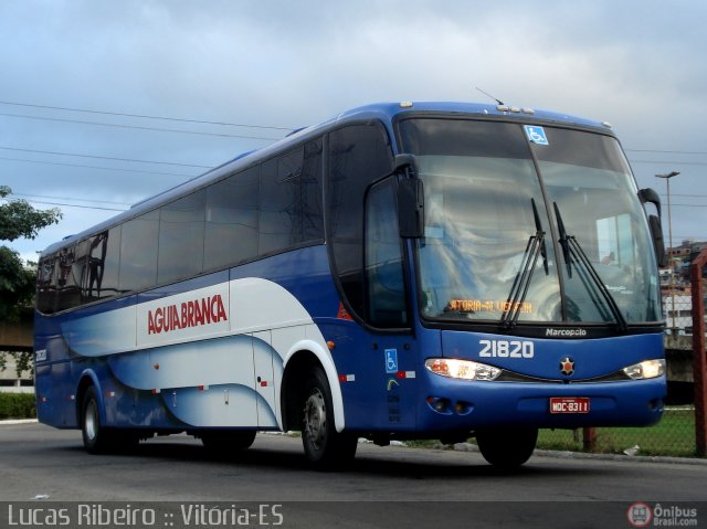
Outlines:
[[[260,174],[254,167],[207,190],[204,269],[257,256]]]

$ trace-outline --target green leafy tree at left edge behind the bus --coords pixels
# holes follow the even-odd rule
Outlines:
[[[55,224],[62,212],[52,208],[36,210],[25,200],[8,199],[12,190],[0,186],[0,241],[34,239],[41,229]],[[32,304],[34,295],[33,264],[24,264],[20,254],[7,246],[0,246],[0,320],[15,319],[22,306]]]

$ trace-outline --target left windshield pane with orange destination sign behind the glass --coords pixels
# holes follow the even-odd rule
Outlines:
[[[420,119],[403,121],[401,130],[405,149],[418,155],[424,182],[425,236],[419,245],[424,316],[504,318],[526,248],[538,231],[535,202],[540,228],[547,231],[546,257],[530,263],[525,299],[515,299],[518,321],[561,319],[548,214],[523,129]]]

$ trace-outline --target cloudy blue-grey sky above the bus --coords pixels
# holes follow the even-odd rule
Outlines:
[[[62,221],[22,257],[374,102],[609,121],[673,244],[707,240],[701,0],[0,0],[0,186]],[[665,208],[667,209],[667,208]],[[667,215],[664,216],[666,242]]]

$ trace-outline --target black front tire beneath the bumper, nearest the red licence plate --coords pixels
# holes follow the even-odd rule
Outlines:
[[[476,432],[484,459],[497,468],[513,470],[526,463],[538,442],[538,429],[499,429]]]

